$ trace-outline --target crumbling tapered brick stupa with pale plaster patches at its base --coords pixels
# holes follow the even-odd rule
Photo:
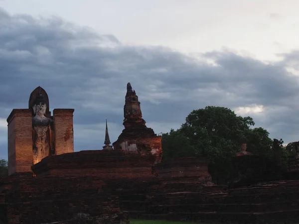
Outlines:
[[[157,136],[154,131],[146,126],[146,121],[142,118],[140,102],[135,90],[130,83],[127,84],[127,94],[124,106],[125,129],[113,143],[115,149],[127,150],[156,156],[155,163],[159,163],[162,158],[161,136]]]

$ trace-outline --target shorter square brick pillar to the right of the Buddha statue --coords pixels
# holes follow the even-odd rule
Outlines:
[[[54,109],[55,155],[74,152],[74,109]]]

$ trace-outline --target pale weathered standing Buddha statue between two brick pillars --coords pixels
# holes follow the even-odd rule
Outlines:
[[[33,105],[32,116],[32,151],[33,165],[43,158],[50,156],[54,151],[53,120],[46,117],[46,101],[40,94]]]

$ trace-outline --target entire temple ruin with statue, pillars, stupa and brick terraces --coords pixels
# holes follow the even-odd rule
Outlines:
[[[37,87],[8,123],[9,176],[0,179],[1,224],[129,224],[130,219],[291,223],[299,218],[299,158],[293,170],[252,155],[232,159],[230,185],[212,183],[207,158],[161,160],[161,136],[147,127],[130,83],[125,129],[101,150],[74,152],[74,109],[49,111]],[[244,142],[243,142],[244,143]],[[298,152],[298,143],[295,144]],[[32,175],[32,173],[34,175]]]

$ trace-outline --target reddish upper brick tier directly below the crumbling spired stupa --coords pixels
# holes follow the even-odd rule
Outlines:
[[[153,177],[154,156],[121,150],[87,150],[55,155],[32,166],[37,176]]]

